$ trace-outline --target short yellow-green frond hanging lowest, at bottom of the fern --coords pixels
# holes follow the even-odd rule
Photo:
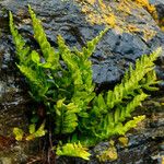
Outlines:
[[[57,148],[57,155],[82,157],[84,160],[90,160],[90,153],[86,148],[83,148],[81,143],[67,143],[62,147]]]

